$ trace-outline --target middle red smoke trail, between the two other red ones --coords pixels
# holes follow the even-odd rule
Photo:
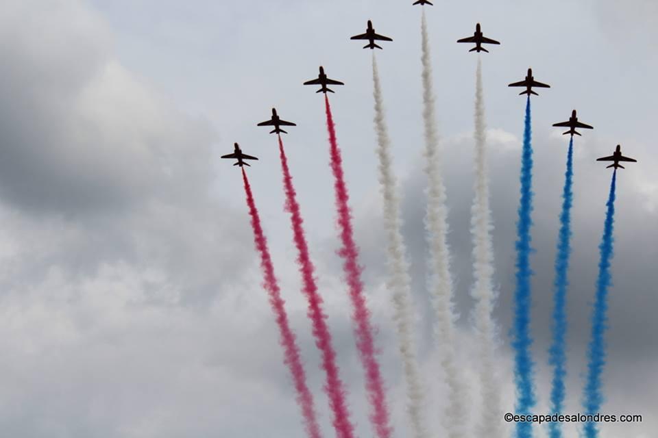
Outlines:
[[[317,293],[317,284],[313,277],[315,267],[310,261],[308,244],[304,236],[304,220],[300,205],[297,203],[297,194],[293,187],[293,177],[288,168],[288,158],[283,149],[281,136],[279,138],[279,153],[281,157],[281,168],[283,171],[283,185],[286,192],[286,210],[291,214],[295,246],[297,247],[297,264],[300,266],[302,281],[304,282],[304,295],[308,300],[308,318],[313,323],[313,336],[315,345],[322,355],[322,368],[326,373],[324,390],[329,396],[329,402],[334,415],[333,425],[339,438],[351,438],[354,436],[354,426],[350,423],[350,413],[345,404],[345,390],[343,382],[339,377],[338,365],[336,364],[336,352],[332,346],[331,333],[327,327],[326,315],[322,312],[322,298]]]

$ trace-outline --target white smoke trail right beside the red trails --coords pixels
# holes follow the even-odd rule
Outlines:
[[[377,155],[379,157],[379,182],[384,197],[384,225],[387,236],[387,265],[389,279],[387,286],[393,294],[393,309],[396,329],[398,329],[398,348],[402,355],[404,378],[406,380],[407,413],[411,421],[413,437],[428,438],[424,419],[424,391],[418,370],[413,342],[413,318],[411,318],[411,279],[409,263],[406,261],[406,248],[402,240],[402,219],[400,218],[400,200],[396,193],[395,175],[391,166],[391,139],[385,120],[382,102],[382,88],[379,80],[377,61],[372,54],[372,80],[375,98],[375,130],[377,133]]]

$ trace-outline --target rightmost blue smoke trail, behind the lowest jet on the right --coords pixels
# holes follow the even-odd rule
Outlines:
[[[596,414],[600,411],[603,402],[601,395],[601,374],[605,365],[605,341],[603,335],[607,326],[608,310],[608,287],[612,283],[610,272],[610,261],[612,259],[612,231],[615,222],[615,190],[617,183],[617,169],[612,174],[610,183],[610,195],[607,202],[605,214],[605,225],[600,250],[600,261],[598,262],[598,278],[596,279],[596,297],[594,300],[594,311],[592,313],[592,341],[589,342],[589,363],[587,364],[587,383],[585,384],[585,400],[583,407],[586,414]],[[596,423],[585,423],[585,437],[598,437]]]

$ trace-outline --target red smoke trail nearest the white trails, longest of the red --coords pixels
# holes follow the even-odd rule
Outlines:
[[[392,432],[389,425],[389,410],[386,403],[379,363],[375,357],[376,350],[372,336],[373,329],[370,325],[370,312],[367,309],[365,295],[363,294],[361,267],[358,266],[358,248],[356,247],[356,243],[354,243],[352,214],[348,206],[350,196],[348,195],[348,188],[345,185],[345,179],[343,177],[343,159],[336,140],[336,129],[331,115],[329,98],[326,94],[324,96],[324,102],[327,113],[329,143],[331,146],[331,170],[336,180],[334,190],[336,192],[338,224],[341,229],[341,242],[343,243],[343,247],[339,250],[339,255],[344,259],[343,270],[350,286],[350,298],[354,307],[352,320],[355,325],[356,347],[361,355],[363,368],[365,368],[365,385],[372,409],[370,421],[373,423],[379,438],[389,438]]]

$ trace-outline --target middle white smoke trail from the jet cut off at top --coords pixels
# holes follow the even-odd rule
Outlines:
[[[449,438],[465,436],[466,396],[463,377],[456,364],[454,325],[456,315],[452,302],[452,276],[450,274],[450,248],[448,247],[448,212],[446,188],[443,186],[439,166],[439,135],[436,127],[435,99],[432,90],[432,65],[430,42],[425,12],[422,16],[422,63],[423,63],[423,122],[425,125],[425,155],[428,177],[427,213],[425,227],[430,250],[429,268],[432,276],[428,281],[432,291],[432,305],[437,321],[435,335],[441,349],[441,365],[448,382],[448,408],[443,417]]]

